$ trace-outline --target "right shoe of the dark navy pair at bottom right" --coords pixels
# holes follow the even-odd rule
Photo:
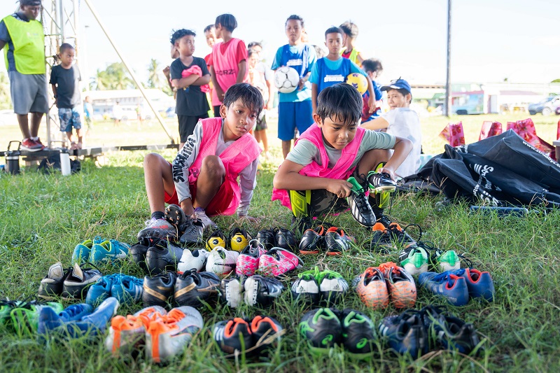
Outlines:
[[[438,344],[447,350],[468,354],[480,343],[474,325],[452,315],[433,316],[431,328]]]

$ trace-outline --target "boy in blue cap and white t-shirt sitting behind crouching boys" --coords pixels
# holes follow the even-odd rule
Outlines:
[[[381,87],[387,91],[387,103],[391,110],[379,118],[362,123],[365,129],[385,129],[388,134],[412,141],[412,151],[395,171],[396,176],[404,178],[414,175],[420,167],[422,133],[418,114],[409,108],[412,102],[410,85],[404,79],[392,80],[389,85]]]

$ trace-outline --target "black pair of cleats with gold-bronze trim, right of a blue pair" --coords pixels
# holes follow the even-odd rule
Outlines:
[[[216,300],[220,279],[211,272],[165,272],[144,277],[142,302],[144,307],[176,306],[202,307]]]

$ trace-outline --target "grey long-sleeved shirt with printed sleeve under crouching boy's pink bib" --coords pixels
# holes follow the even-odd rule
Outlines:
[[[179,203],[183,199],[190,198],[190,189],[188,187],[188,169],[198,156],[200,151],[200,143],[202,141],[202,122],[198,122],[195,131],[192,135],[188,136],[185,146],[173,160],[173,181],[175,183],[175,190],[177,191],[177,197],[179,198]],[[222,120],[222,130],[220,131],[220,136],[218,137],[218,144],[216,146],[216,155],[221,155],[223,151],[232,145],[234,141],[228,141],[225,143],[223,141],[223,120]],[[246,215],[249,210],[249,204],[251,204],[251,199],[253,198],[253,190],[257,186],[257,167],[258,158],[255,159],[251,164],[241,170],[239,173],[239,186],[241,187],[241,197],[239,201],[239,207],[237,208],[238,215]]]

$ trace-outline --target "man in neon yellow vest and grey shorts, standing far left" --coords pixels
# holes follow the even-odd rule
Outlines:
[[[18,12],[0,21],[0,49],[4,49],[10,77],[13,111],[24,138],[22,149],[30,151],[45,148],[38,131],[43,113],[48,113],[45,33],[43,24],[36,20],[40,11],[41,0],[20,0]]]

